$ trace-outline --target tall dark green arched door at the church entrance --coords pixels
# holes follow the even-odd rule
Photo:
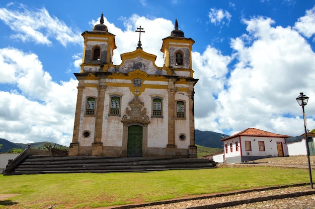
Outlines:
[[[128,143],[127,143],[128,157],[142,156],[142,127],[133,125],[128,127]]]

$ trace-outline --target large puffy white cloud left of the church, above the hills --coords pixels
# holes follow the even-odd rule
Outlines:
[[[71,142],[77,81],[57,84],[37,55],[15,48],[0,49],[0,135],[13,142]]]

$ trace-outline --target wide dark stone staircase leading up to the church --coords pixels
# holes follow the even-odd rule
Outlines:
[[[152,172],[215,168],[215,162],[196,158],[145,158],[30,155],[4,175],[39,173]]]

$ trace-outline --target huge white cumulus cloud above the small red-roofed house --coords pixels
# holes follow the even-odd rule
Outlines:
[[[248,33],[231,40],[236,64],[208,120],[217,121],[215,130],[232,129],[230,134],[256,127],[299,135],[302,121],[296,116],[301,108],[294,100],[300,91],[315,93],[315,55],[290,27],[272,27],[274,21],[262,17],[244,23]],[[313,104],[309,104],[309,127],[315,127]]]

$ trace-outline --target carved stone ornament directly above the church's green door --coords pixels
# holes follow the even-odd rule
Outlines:
[[[150,123],[149,117],[146,115],[146,108],[143,107],[144,103],[140,101],[139,97],[134,97],[134,99],[128,104],[131,110],[128,107],[126,108],[127,115],[122,117],[121,122],[140,122],[144,124]]]

